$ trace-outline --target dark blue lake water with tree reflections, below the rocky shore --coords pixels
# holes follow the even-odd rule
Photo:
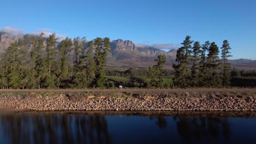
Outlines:
[[[0,114],[0,143],[256,143],[256,118]]]

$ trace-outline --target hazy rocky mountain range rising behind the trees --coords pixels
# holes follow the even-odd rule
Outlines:
[[[6,32],[0,32],[0,54],[3,53],[10,43],[24,38],[24,34],[9,34]],[[154,59],[158,55],[165,55],[167,62],[164,65],[166,69],[172,69],[172,64],[175,63],[176,49],[170,51],[164,51],[156,49],[153,46],[136,45],[131,40],[113,40],[110,44],[111,51],[107,56],[107,68],[108,69],[129,69],[135,68],[148,68],[156,64]],[[85,47],[86,49],[86,47]],[[232,68],[255,70],[256,61],[251,59],[234,59],[230,60]]]

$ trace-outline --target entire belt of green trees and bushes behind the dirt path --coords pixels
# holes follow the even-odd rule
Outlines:
[[[187,36],[177,50],[174,70],[164,69],[166,56],[159,55],[148,69],[119,71],[106,69],[109,38],[89,43],[85,38],[66,38],[58,43],[55,34],[27,34],[0,57],[0,88],[255,87],[254,71],[231,70],[228,40],[220,49],[221,58],[216,43],[201,45]]]

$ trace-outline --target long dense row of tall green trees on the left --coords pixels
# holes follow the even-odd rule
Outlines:
[[[3,89],[104,87],[109,38],[66,38],[57,43],[55,34],[44,38],[25,35],[10,44],[0,65]]]

